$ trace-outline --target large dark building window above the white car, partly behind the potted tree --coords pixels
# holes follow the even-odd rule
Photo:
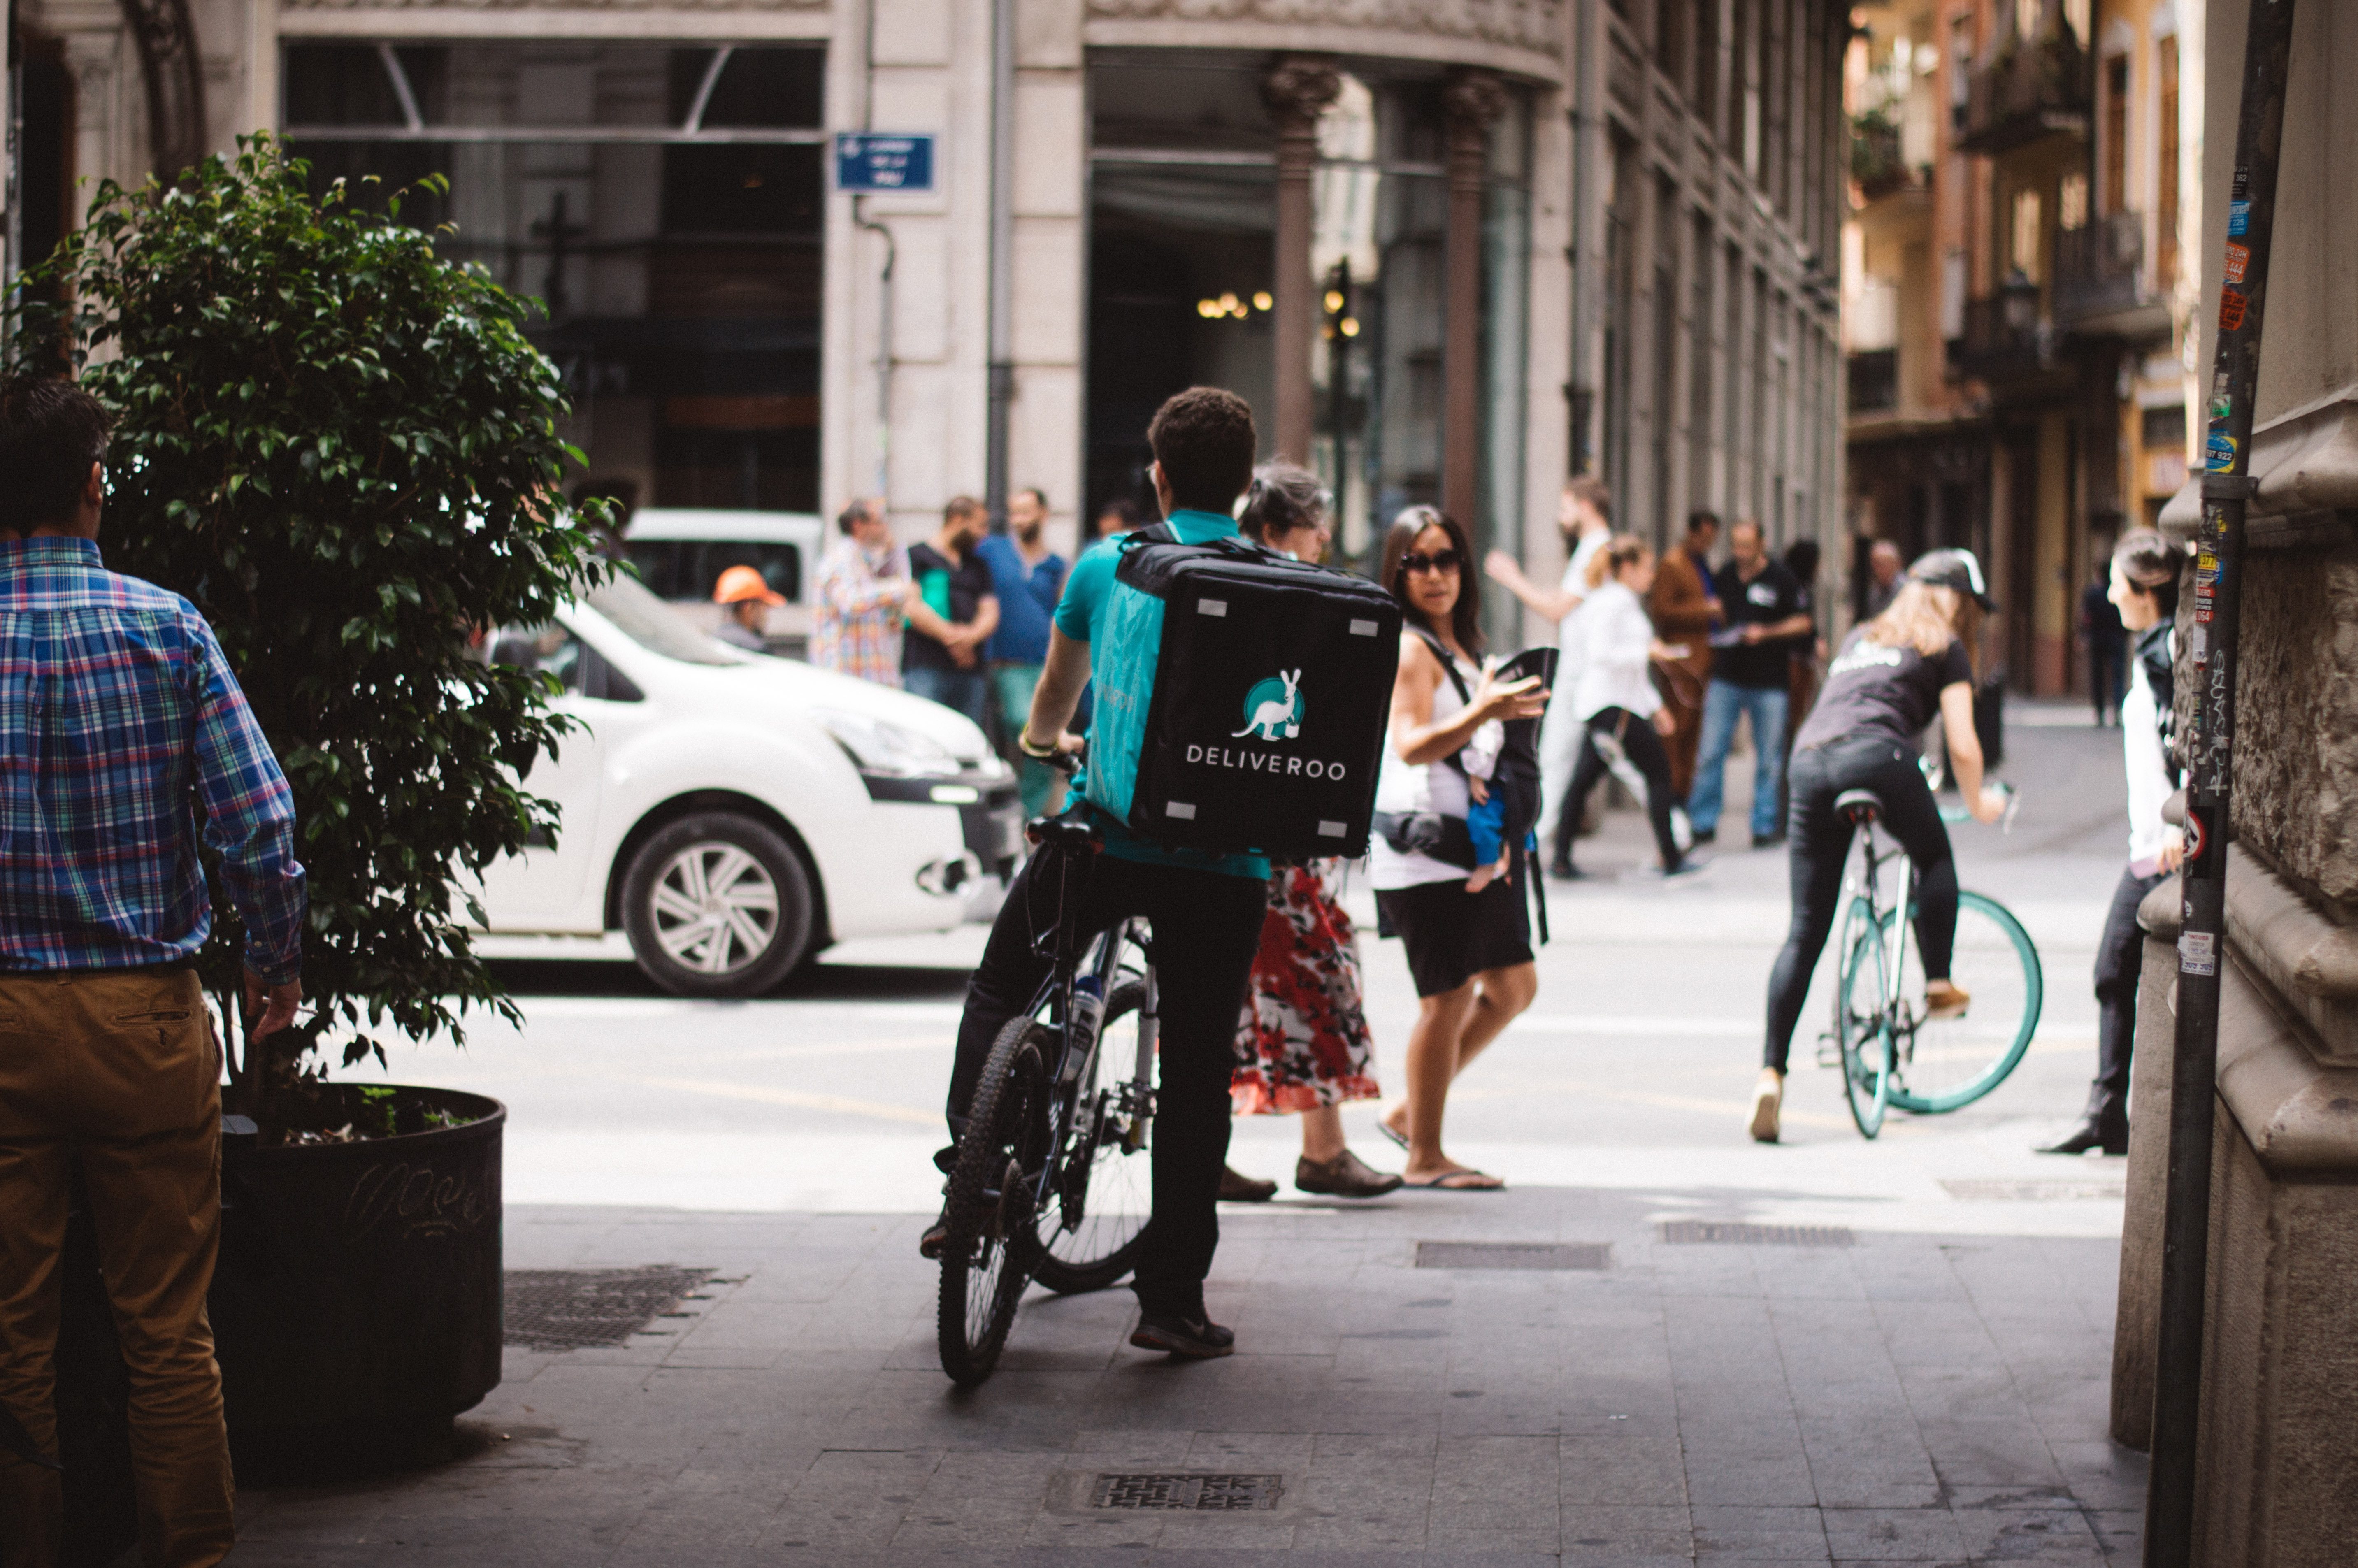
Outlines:
[[[816,47],[288,45],[314,186],[377,177],[443,255],[533,295],[587,486],[818,509]]]

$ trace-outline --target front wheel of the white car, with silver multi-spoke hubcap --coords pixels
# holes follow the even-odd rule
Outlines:
[[[681,997],[752,997],[811,941],[811,879],[766,823],[700,811],[630,861],[623,924],[646,979]]]

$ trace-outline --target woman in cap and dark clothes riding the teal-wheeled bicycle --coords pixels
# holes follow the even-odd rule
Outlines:
[[[1983,611],[1995,611],[1971,549],[1934,549],[1908,568],[1891,606],[1842,644],[1825,670],[1818,705],[1792,743],[1785,773],[1792,839],[1792,927],[1768,976],[1768,1040],[1752,1089],[1752,1137],[1776,1144],[1785,1103],[1785,1059],[1809,997],[1809,976],[1835,929],[1842,868],[1853,825],[1835,809],[1844,790],[1882,797],[1882,823],[1915,863],[1915,929],[1924,955],[1926,1019],[1962,1016],[1971,997],[1950,983],[1957,938],[1957,863],[1931,785],[1917,766],[1917,738],[1934,714],[1948,733],[1957,792],[1976,821],[2004,816],[2007,795],[1981,783],[1974,731],[1974,665]]]

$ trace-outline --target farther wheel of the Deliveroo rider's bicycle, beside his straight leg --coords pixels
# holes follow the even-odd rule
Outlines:
[[[1056,1292],[1104,1290],[1129,1273],[1155,1212],[1153,1118],[1134,1087],[1139,1009],[1146,988],[1115,986],[1096,1035],[1096,1063],[1073,1096],[1063,1160],[1035,1214],[1040,1283]],[[1148,1070],[1146,1092],[1153,1092]]]

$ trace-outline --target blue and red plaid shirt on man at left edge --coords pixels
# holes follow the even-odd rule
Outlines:
[[[212,931],[198,861],[245,920],[245,967],[302,969],[295,799],[212,627],[92,540],[0,542],[0,969],[132,969]]]

